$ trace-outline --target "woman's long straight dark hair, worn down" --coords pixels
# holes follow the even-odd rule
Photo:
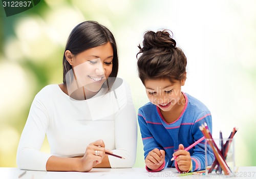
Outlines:
[[[72,69],[65,57],[66,50],[72,54],[79,54],[87,49],[101,46],[110,42],[113,48],[113,67],[109,77],[117,77],[118,56],[116,41],[111,31],[96,21],[83,21],[78,24],[70,33],[66,49],[63,55],[63,83],[66,84],[66,74]],[[113,79],[113,78],[112,78]]]

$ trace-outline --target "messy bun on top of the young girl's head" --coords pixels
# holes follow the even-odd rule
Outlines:
[[[142,51],[152,48],[176,48],[176,41],[172,38],[172,31],[146,31],[144,34]]]

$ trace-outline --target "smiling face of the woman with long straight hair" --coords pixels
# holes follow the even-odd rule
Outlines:
[[[73,55],[70,64],[78,86],[98,92],[112,72],[112,60],[113,48],[110,42]]]

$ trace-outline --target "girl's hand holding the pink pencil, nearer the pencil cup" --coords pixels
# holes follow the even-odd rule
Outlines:
[[[177,156],[175,160],[180,171],[188,172],[191,165],[191,157],[190,153],[184,150],[184,146],[182,144],[179,145],[179,150],[174,152],[173,156]]]

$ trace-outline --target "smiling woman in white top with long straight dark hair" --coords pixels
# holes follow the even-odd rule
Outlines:
[[[18,168],[87,172],[132,167],[136,112],[129,86],[116,78],[117,72],[117,47],[109,29],[95,21],[77,25],[63,55],[63,83],[44,87],[33,100],[17,149]],[[45,135],[50,154],[40,152]]]

